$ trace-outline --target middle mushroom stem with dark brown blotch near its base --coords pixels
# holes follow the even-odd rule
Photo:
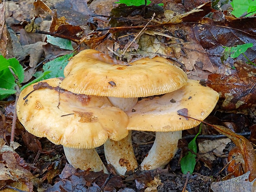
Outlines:
[[[123,111],[131,110],[138,101],[138,98],[108,97],[109,102]],[[108,164],[116,169],[119,175],[125,175],[126,171],[133,171],[137,168],[137,161],[133,152],[131,131],[119,141],[108,139],[104,143],[104,152]]]

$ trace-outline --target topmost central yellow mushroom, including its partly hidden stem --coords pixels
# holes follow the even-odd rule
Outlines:
[[[171,92],[187,83],[184,71],[167,59],[143,58],[126,64],[96,50],[83,50],[64,69],[60,87],[71,92],[108,97],[111,104],[129,111],[137,97]],[[108,140],[105,156],[124,175],[137,168],[131,134],[121,141]]]

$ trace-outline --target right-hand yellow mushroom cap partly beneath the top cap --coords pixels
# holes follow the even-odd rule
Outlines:
[[[182,88],[166,93],[162,97],[140,100],[128,115],[128,130],[169,132],[193,128],[199,125],[214,109],[219,98],[218,92],[204,87],[195,80],[187,80]],[[186,108],[186,120],[177,111]]]

